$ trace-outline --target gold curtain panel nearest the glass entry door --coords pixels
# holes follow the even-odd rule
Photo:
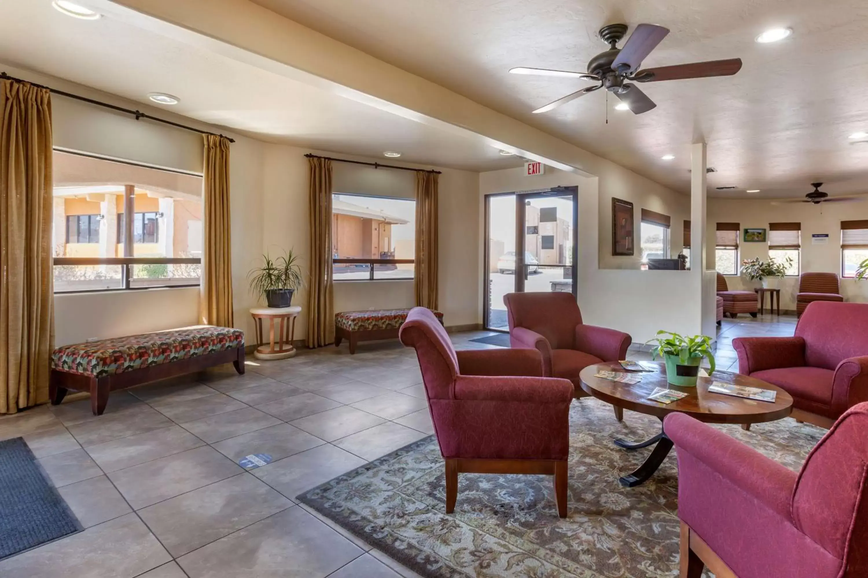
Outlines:
[[[437,308],[437,177],[416,172],[416,304]]]

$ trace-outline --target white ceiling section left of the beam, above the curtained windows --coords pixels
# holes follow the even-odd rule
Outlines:
[[[467,170],[520,166],[471,139],[328,93],[299,81],[159,36],[112,17],[76,20],[49,0],[0,2],[0,62],[150,105],[149,92],[177,95],[167,107],[261,140],[335,153]],[[26,80],[26,79],[25,79]]]

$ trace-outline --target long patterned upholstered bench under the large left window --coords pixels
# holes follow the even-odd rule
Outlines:
[[[109,392],[233,362],[244,373],[244,332],[207,325],[88,341],[57,347],[51,355],[49,395],[58,405],[72,389],[90,392],[102,415]]]

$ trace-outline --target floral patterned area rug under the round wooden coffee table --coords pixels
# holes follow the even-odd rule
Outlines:
[[[783,419],[719,425],[733,438],[799,470],[825,430]],[[460,474],[446,515],[443,459],[425,438],[299,496],[345,529],[428,578],[662,578],[678,575],[678,484],[673,451],[636,488],[618,477],[650,449],[625,451],[614,438],[660,432],[660,422],[596,399],[570,411],[569,517],[557,517],[552,478]]]

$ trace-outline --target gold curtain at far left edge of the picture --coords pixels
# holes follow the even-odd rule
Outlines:
[[[0,413],[49,399],[51,96],[0,81]]]

